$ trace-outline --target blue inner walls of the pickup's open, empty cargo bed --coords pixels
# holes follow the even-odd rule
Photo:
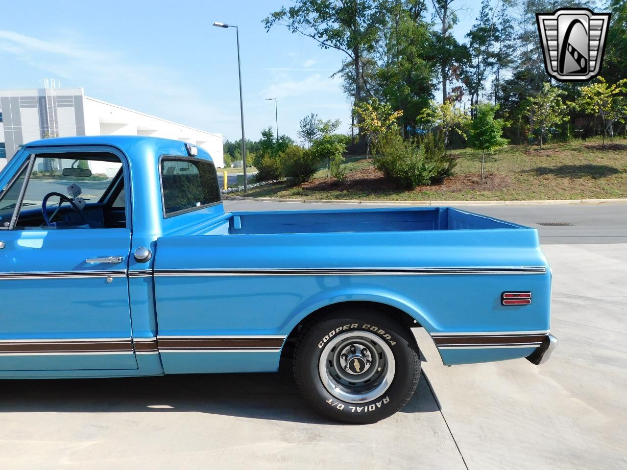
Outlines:
[[[295,234],[524,228],[452,207],[234,212],[228,234]]]

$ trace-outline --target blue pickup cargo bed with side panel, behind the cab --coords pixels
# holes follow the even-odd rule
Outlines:
[[[551,274],[534,228],[450,207],[233,212],[208,224],[157,240],[156,310],[166,337],[285,336],[303,316],[345,301],[397,308],[432,335],[549,330]],[[534,301],[524,311],[503,306],[503,291],[529,291]],[[459,364],[534,348],[440,353]],[[274,370],[279,354],[263,357]],[[161,359],[166,372],[196,370],[177,353]],[[238,370],[253,370],[246,360]],[[199,355],[194,367],[203,362]],[[215,360],[206,367],[215,372]]]

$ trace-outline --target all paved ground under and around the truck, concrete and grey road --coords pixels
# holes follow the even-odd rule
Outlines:
[[[416,330],[426,358],[418,393],[368,426],[320,419],[289,365],[278,374],[7,380],[0,469],[627,468],[627,205],[468,209],[573,224],[538,226],[560,342],[544,365],[445,367]]]

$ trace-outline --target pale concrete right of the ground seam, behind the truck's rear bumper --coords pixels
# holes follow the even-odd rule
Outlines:
[[[420,330],[424,373],[470,469],[627,468],[627,244],[542,249],[551,359],[445,367]]]

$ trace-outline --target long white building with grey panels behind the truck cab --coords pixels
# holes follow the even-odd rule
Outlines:
[[[151,135],[207,150],[224,166],[222,134],[150,116],[85,96],[83,88],[0,90],[0,170],[20,145],[71,135]]]

